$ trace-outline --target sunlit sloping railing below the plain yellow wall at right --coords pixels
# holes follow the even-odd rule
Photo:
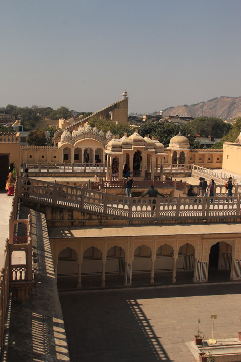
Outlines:
[[[238,186],[241,186],[241,179],[236,178],[234,175],[230,174],[229,172],[218,172],[215,169],[208,169],[196,165],[192,165],[192,176],[195,176],[197,178],[204,177],[206,180],[210,181],[213,179],[215,182],[223,183],[225,184],[229,177],[233,178],[233,183],[235,183]]]

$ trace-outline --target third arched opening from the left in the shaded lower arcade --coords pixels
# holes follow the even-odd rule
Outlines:
[[[125,251],[120,246],[111,247],[106,254],[106,286],[123,285],[125,276]]]

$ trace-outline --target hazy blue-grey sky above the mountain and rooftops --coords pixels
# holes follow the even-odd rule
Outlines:
[[[0,106],[151,112],[241,95],[240,0],[2,0]]]

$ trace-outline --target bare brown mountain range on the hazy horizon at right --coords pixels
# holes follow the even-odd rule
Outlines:
[[[184,104],[183,106],[163,109],[164,115],[179,115],[186,117],[218,117],[222,119],[241,116],[241,97],[216,97],[207,102]]]

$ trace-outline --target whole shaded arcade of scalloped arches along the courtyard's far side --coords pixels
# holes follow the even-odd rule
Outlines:
[[[240,235],[50,237],[50,242],[59,283],[72,277],[78,288],[241,278]]]

